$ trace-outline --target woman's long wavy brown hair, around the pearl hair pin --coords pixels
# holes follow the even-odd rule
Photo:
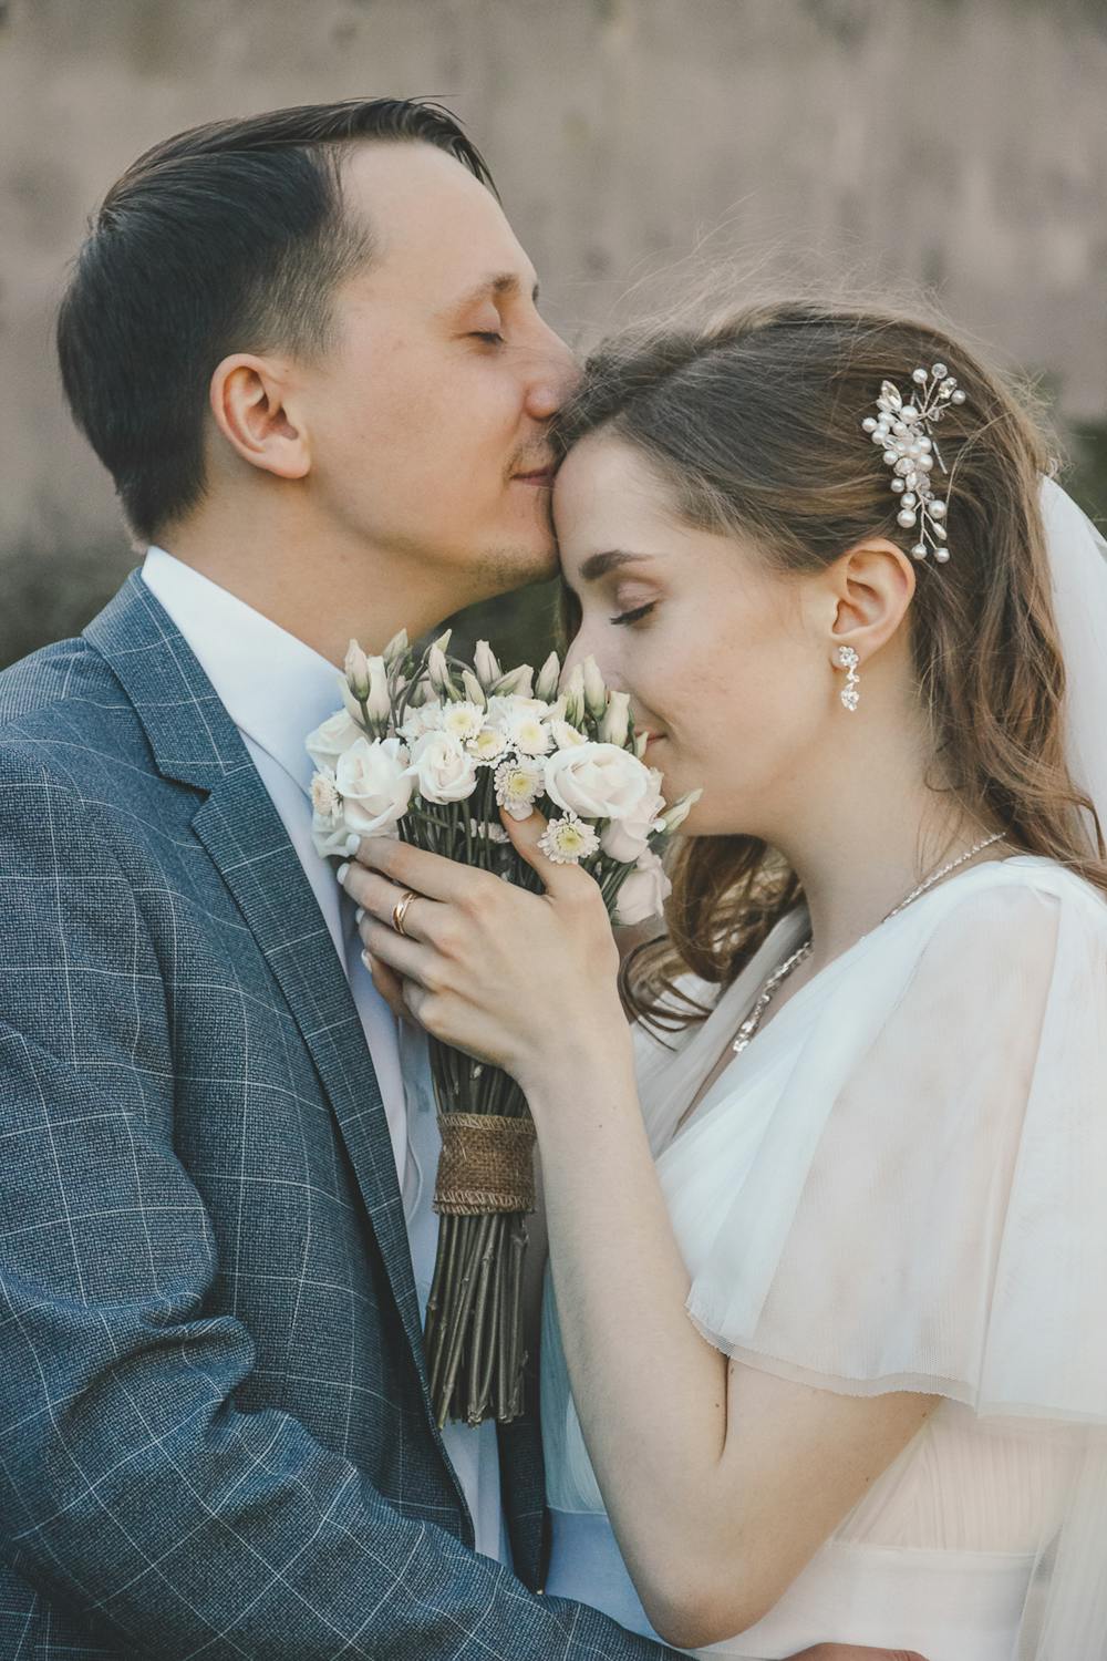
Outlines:
[[[966,394],[938,432],[954,551],[948,565],[918,566],[909,630],[944,789],[1014,845],[1107,892],[1102,829],[1066,764],[1039,513],[1049,445],[1026,402],[964,344],[891,311],[750,306],[709,327],[604,345],[558,443],[564,452],[604,429],[634,445],[689,525],[752,538],[780,571],[815,571],[871,537],[909,551],[918,533],[896,523],[888,467],[861,420],[881,380],[906,395],[911,372],[934,362]],[[626,960],[624,992],[639,1015],[680,1026],[705,1012],[674,1003],[674,978],[690,968],[729,985],[803,895],[780,854],[750,835],[689,837],[671,875],[667,935]]]

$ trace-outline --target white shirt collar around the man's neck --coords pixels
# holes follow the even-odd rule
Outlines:
[[[307,794],[314,769],[304,739],[342,703],[334,663],[164,548],[148,550],[143,581],[237,729]]]

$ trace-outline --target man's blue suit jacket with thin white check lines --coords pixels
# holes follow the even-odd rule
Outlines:
[[[0,1656],[662,1656],[471,1551],[350,992],[131,576],[0,676]]]

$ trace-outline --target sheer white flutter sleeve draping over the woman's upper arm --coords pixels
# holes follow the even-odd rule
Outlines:
[[[1017,1654],[1107,1656],[1107,904],[981,867],[830,978],[661,1164],[689,1314],[783,1377],[1072,1438]]]

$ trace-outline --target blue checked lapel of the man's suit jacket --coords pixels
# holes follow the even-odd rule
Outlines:
[[[380,1086],[349,982],[299,855],[237,728],[138,573],[85,635],[128,693],[159,772],[206,792],[193,829],[257,940],[312,1055],[427,1387],[412,1254]]]

